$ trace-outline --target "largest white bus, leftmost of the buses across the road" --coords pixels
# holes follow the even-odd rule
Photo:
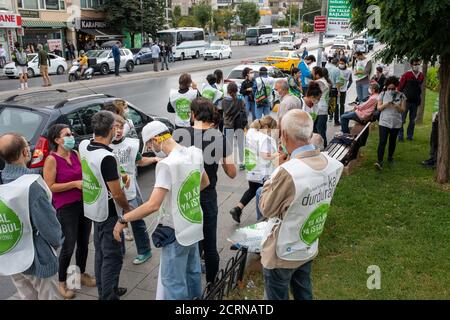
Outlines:
[[[175,59],[200,58],[205,51],[205,33],[201,28],[177,28],[158,31],[158,40],[173,44]]]

